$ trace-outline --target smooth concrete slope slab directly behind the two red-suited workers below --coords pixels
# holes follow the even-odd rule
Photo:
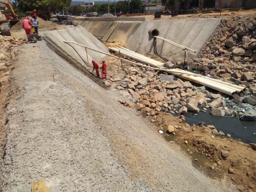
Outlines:
[[[72,46],[71,47],[68,44],[64,43],[63,40],[76,42],[84,46],[90,47],[92,49],[109,53],[108,48],[106,48],[106,46],[104,46],[102,42],[100,42],[96,37],[94,37],[90,32],[88,32],[85,28],[81,26],[75,28],[50,31],[46,33],[46,36],[55,44],[57,44],[59,48],[64,49],[66,53],[74,57],[80,63],[84,63],[84,61],[87,63],[85,48],[75,44],[70,44]],[[106,55],[102,53],[88,50],[88,65],[92,66],[92,59],[99,62],[105,57]]]

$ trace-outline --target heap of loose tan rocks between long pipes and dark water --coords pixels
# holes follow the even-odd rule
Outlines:
[[[160,111],[180,114],[181,121],[185,120],[183,114],[188,111],[207,112],[209,107],[212,115],[220,117],[240,116],[245,112],[245,110],[238,112],[233,108],[233,103],[226,104],[222,95],[210,93],[205,86],[194,86],[189,81],[176,79],[165,73],[158,74],[143,67],[127,66],[124,70],[126,72],[124,79],[112,79],[116,82],[115,87],[119,90],[126,89],[133,97],[137,110],[146,113],[153,122]],[[131,107],[126,101],[119,102]]]

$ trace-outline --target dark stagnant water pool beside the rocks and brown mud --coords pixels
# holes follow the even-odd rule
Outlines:
[[[217,130],[221,130],[225,135],[230,134],[233,138],[241,139],[244,143],[256,143],[256,121],[240,121],[234,117],[217,117],[210,114],[210,108],[207,113],[191,113],[186,115],[186,123],[198,125],[199,122],[205,122],[205,125],[214,125]]]

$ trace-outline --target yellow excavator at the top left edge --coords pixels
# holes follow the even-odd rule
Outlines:
[[[0,0],[0,3],[5,4],[6,8],[8,9],[8,11],[5,10],[4,13],[0,11],[0,23],[2,23],[0,25],[1,34],[5,36],[11,36],[10,26],[13,26],[18,22],[18,12],[13,10],[9,0]],[[8,19],[8,13],[12,14],[12,20]]]

